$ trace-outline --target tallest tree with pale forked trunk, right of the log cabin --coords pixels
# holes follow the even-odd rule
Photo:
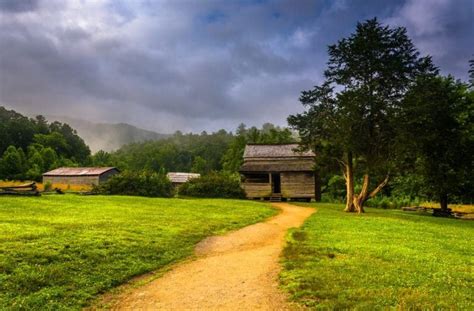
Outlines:
[[[346,211],[360,213],[388,182],[397,107],[418,75],[437,69],[430,57],[419,56],[405,28],[375,18],[358,23],[355,33],[329,46],[328,53],[325,81],[302,92],[307,110],[288,122],[304,147],[342,166]]]

